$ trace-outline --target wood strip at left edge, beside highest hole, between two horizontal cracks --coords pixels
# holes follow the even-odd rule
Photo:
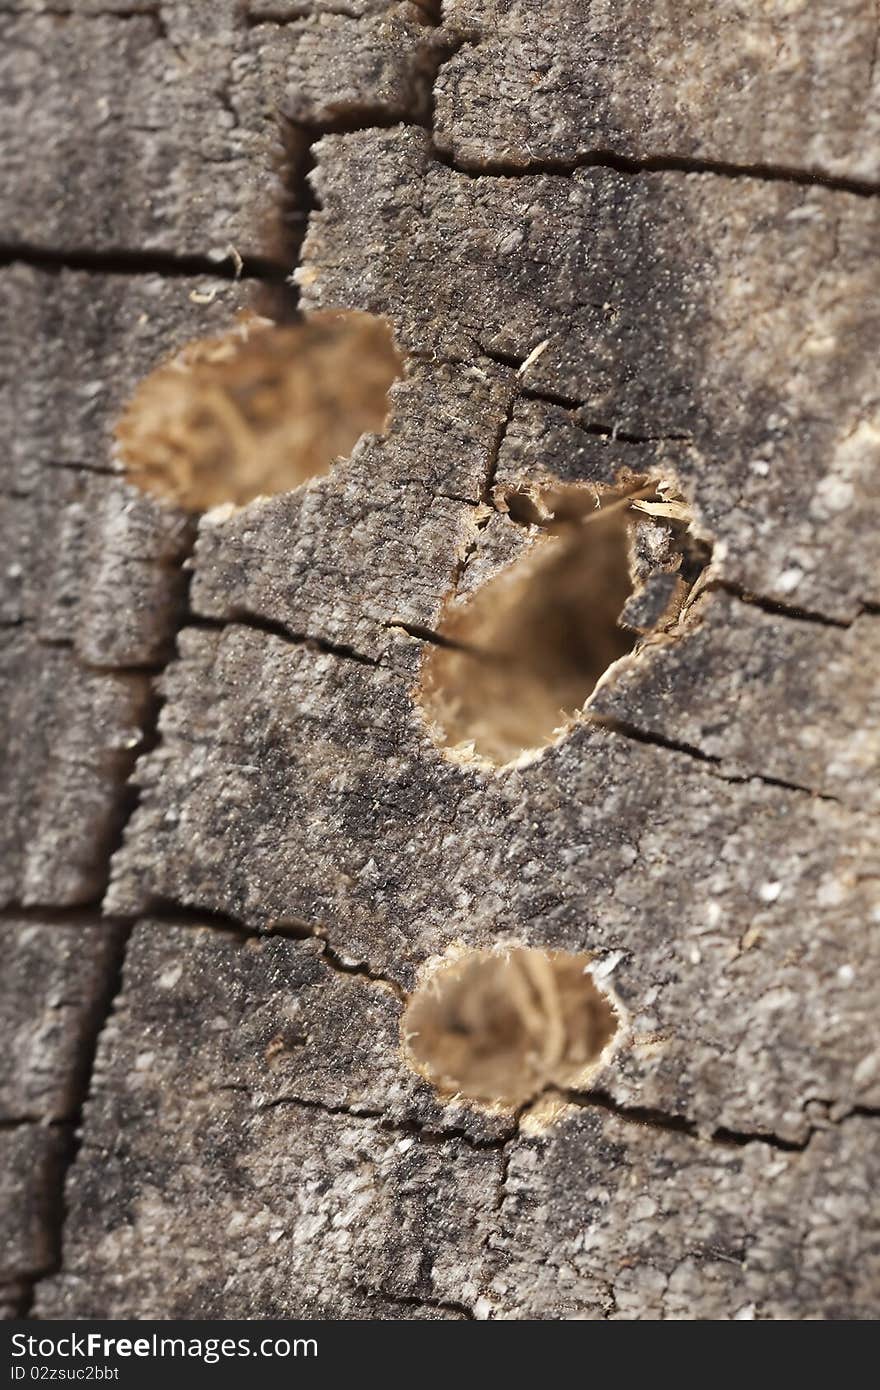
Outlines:
[[[21,335],[3,373],[3,905],[100,901],[192,545],[188,517],[117,474],[110,431],[139,377],[239,295],[203,279],[1,272]]]

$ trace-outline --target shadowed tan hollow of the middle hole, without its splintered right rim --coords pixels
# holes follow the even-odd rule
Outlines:
[[[549,534],[448,614],[439,631],[452,645],[430,652],[421,682],[442,741],[496,764],[551,742],[638,638],[619,624],[633,592],[626,500],[596,510],[592,493],[570,489],[549,525],[534,502],[507,502]]]

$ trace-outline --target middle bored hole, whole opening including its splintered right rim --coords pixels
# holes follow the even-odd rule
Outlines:
[[[495,766],[534,755],[614,662],[677,614],[699,564],[687,509],[662,486],[503,498],[507,524],[525,527],[531,543],[448,605],[442,645],[421,669],[420,703],[442,746]]]

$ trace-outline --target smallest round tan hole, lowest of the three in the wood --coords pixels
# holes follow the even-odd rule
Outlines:
[[[516,1106],[584,1087],[617,1024],[588,955],[512,947],[437,969],[410,995],[402,1034],[409,1065],[441,1094]]]

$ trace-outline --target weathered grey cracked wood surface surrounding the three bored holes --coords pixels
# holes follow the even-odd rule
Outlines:
[[[0,1307],[876,1316],[876,7],[56,8],[0,3]],[[186,560],[110,430],[229,245],[410,364]],[[425,630],[512,489],[621,468],[699,595],[542,756],[450,759]],[[588,1094],[405,1065],[456,941],[596,954]]]

